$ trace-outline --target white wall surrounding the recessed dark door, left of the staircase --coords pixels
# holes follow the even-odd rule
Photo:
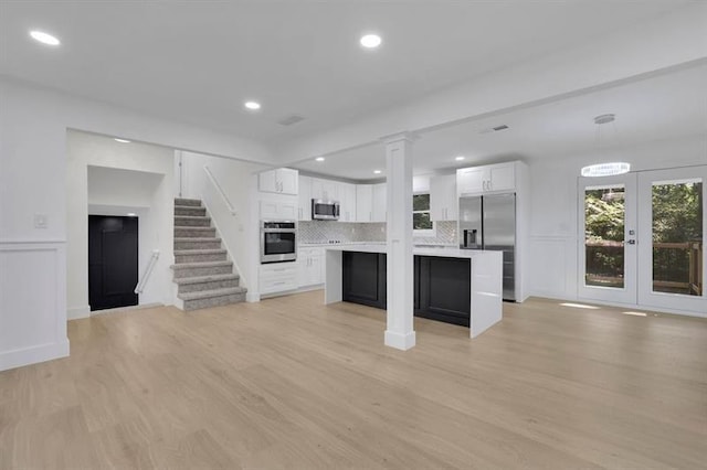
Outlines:
[[[140,275],[152,249],[160,257],[140,303],[170,305],[173,264],[173,150],[145,143],[119,143],[81,131],[67,135],[66,267],[67,316],[88,314],[88,207],[112,215],[109,207],[141,215]],[[112,212],[112,211],[110,211]]]

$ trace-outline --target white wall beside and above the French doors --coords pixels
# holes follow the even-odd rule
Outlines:
[[[632,171],[707,164],[707,136],[531,161],[527,267],[531,296],[577,299],[579,174],[587,164],[606,161],[626,161]]]

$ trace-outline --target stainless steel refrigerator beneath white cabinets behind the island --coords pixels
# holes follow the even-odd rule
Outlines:
[[[516,300],[516,194],[460,197],[460,247],[504,252],[504,300]]]

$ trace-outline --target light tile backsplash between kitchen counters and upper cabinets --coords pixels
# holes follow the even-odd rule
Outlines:
[[[415,244],[455,245],[456,221],[436,222],[434,237],[414,237]],[[386,242],[384,223],[349,223],[334,221],[299,222],[299,243],[341,243]]]

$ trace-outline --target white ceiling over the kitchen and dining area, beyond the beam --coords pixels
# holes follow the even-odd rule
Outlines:
[[[420,136],[413,147],[415,174],[510,159],[540,159],[590,151],[597,146],[634,146],[680,136],[707,136],[707,65],[644,78],[580,96],[446,127]],[[597,138],[595,116],[616,120]],[[486,132],[507,125],[507,130]],[[454,160],[464,156],[464,161]],[[310,173],[351,180],[384,177],[382,145],[296,165]],[[383,170],[374,174],[373,170]]]

